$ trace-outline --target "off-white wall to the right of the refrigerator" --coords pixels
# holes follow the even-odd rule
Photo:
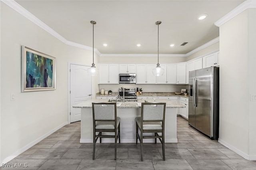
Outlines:
[[[219,141],[256,160],[256,9],[249,8],[220,26]]]

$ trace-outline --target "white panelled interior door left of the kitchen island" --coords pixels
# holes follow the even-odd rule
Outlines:
[[[87,74],[89,66],[70,64],[70,123],[81,121],[81,109],[72,106],[92,99],[92,77]]]

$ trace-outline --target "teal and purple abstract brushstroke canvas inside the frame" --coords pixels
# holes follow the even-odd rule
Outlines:
[[[26,51],[26,88],[53,87],[53,60]]]

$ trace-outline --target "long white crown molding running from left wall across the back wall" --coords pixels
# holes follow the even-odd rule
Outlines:
[[[43,30],[45,30],[46,32],[48,32],[49,34],[51,34],[52,36],[54,36],[55,38],[60,40],[61,42],[65,43],[67,45],[74,46],[74,47],[87,49],[90,51],[93,50],[92,47],[66,40],[64,37],[62,37],[60,34],[58,34],[56,31],[54,31],[52,28],[50,28],[44,22],[39,20],[36,16],[34,16],[30,12],[28,12],[28,10],[26,10],[25,8],[20,6],[20,4],[18,4],[14,0],[0,0],[0,1],[4,2],[10,8],[14,9],[18,13],[20,13],[22,16],[26,17],[28,20],[30,20],[31,22],[33,22],[34,24],[36,24],[37,26],[39,26],[40,28],[42,28]],[[248,0],[248,2],[254,2],[254,1]],[[256,2],[254,4],[256,6]],[[215,38],[214,40],[211,40],[210,42],[208,42],[208,43],[206,43],[206,44],[204,44],[186,54],[159,54],[159,57],[188,57],[189,55],[196,53],[197,51],[200,51],[201,49],[204,49],[205,47],[208,47],[209,45],[212,45],[213,43],[216,43],[218,41],[219,41],[219,37]],[[94,48],[94,52],[96,54],[98,54],[98,56],[100,56],[100,57],[157,57],[157,54],[102,54],[96,48]]]

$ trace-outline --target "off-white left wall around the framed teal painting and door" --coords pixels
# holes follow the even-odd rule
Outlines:
[[[0,3],[0,147],[4,162],[68,122],[68,62],[91,65],[92,51],[60,42]],[[21,93],[21,45],[56,57],[56,90]],[[10,101],[10,93],[16,94],[15,101]]]

